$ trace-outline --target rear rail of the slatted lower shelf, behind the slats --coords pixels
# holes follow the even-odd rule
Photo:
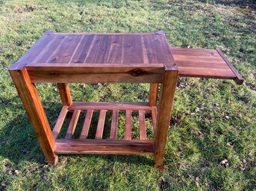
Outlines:
[[[93,109],[95,111],[100,111],[101,109],[105,110],[145,110],[151,111],[152,107],[149,106],[149,103],[132,103],[132,102],[96,102],[96,103],[87,103],[87,102],[73,102],[71,106],[69,106],[69,110],[87,110]]]

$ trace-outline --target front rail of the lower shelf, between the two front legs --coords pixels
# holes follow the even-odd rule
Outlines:
[[[152,155],[154,140],[57,139],[56,154]]]

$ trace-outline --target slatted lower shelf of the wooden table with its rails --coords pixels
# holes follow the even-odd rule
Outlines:
[[[64,138],[58,138],[68,112],[72,112],[72,118],[65,132],[66,135]],[[75,128],[81,112],[86,112],[84,123],[79,137],[74,138]],[[92,128],[91,120],[94,112],[99,113],[99,119],[96,126],[95,139],[89,139],[88,133]],[[106,112],[112,114],[112,120],[110,137],[103,138]],[[117,139],[119,112],[125,113],[124,139]],[[137,130],[140,132],[139,139],[132,138],[132,113],[138,113],[139,129]],[[72,103],[71,106],[63,106],[52,131],[56,141],[54,152],[56,154],[154,154],[154,140],[148,140],[147,137],[146,114],[150,114],[155,130],[157,108],[149,106],[149,103]]]

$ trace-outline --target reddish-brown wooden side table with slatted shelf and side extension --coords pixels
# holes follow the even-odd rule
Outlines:
[[[10,75],[49,164],[57,154],[153,154],[163,166],[173,97],[178,74],[243,82],[219,49],[169,48],[162,31],[155,33],[47,32],[10,68]],[[54,82],[63,108],[51,131],[35,83]],[[73,102],[68,83],[150,83],[149,103]],[[158,85],[160,100],[157,106]],[[86,117],[79,138],[73,138],[79,114]],[[110,137],[102,139],[107,111],[112,113]],[[119,111],[125,112],[125,139],[116,139]],[[64,138],[58,138],[67,112],[72,119]],[[88,139],[93,112],[99,112],[95,139]],[[131,137],[131,113],[139,114],[140,139]],[[145,113],[150,112],[154,139],[146,134]]]

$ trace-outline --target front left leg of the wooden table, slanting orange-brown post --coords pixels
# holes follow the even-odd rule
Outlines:
[[[29,120],[31,120],[37,139],[43,149],[43,153],[49,164],[55,164],[57,155],[54,154],[55,141],[51,134],[51,128],[43,110],[37,89],[28,77],[28,73],[22,70],[9,70],[13,82],[18,91],[19,97],[27,111]]]

